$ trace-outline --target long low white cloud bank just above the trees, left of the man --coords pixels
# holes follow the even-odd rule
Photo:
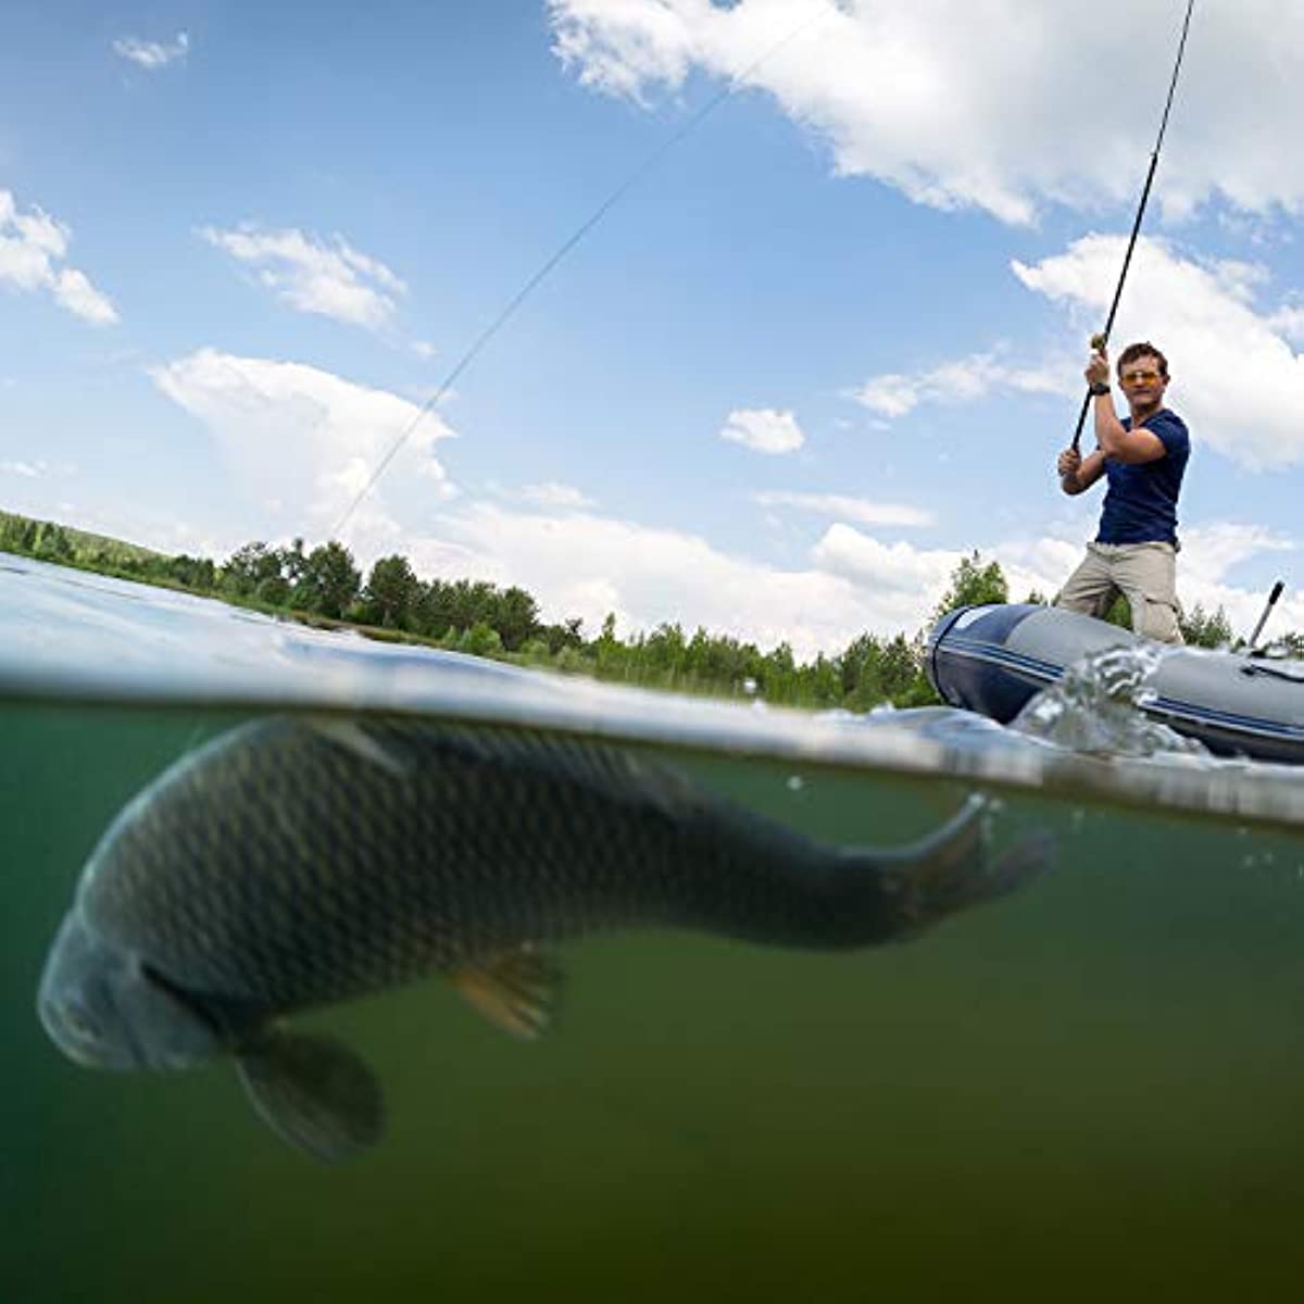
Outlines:
[[[1082,545],[1038,540],[982,550],[1022,600],[1033,588],[1055,592]],[[679,531],[482,502],[443,512],[438,533],[404,540],[404,552],[424,575],[520,584],[546,619],[579,615],[596,630],[614,612],[622,632],[677,621],[762,648],[788,642],[802,659],[840,652],[865,630],[913,635],[965,556],[887,544],[840,523],[812,546],[807,566],[782,569]]]

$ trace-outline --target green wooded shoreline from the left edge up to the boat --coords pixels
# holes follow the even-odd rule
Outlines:
[[[0,511],[0,550],[214,599],[310,629],[456,651],[604,682],[711,698],[760,698],[810,709],[866,711],[882,703],[921,705],[938,700],[922,669],[922,630],[913,639],[901,634],[882,640],[865,634],[840,656],[820,655],[799,664],[788,644],[763,652],[730,635],[711,635],[702,629],[687,635],[678,623],[621,639],[609,615],[597,635],[585,638],[578,619],[561,625],[540,621],[537,602],[522,589],[498,591],[469,580],[421,582],[399,557],[382,558],[363,583],[356,569],[349,575],[352,558],[339,544],[322,545],[310,554],[304,553],[301,540],[280,550],[249,544],[218,563]],[[343,596],[335,595],[335,610],[322,609],[327,605],[322,601],[323,585],[308,583],[314,579],[312,566],[319,557],[346,579]],[[452,613],[438,632],[429,625],[421,627],[422,602],[429,605],[436,588],[438,596],[451,592],[454,599],[469,602],[466,612]],[[300,593],[317,601],[296,602]],[[274,601],[273,596],[282,600]],[[382,618],[368,618],[376,614]]]

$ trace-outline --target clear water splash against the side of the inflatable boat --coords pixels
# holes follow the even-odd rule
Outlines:
[[[1145,712],[1157,696],[1150,677],[1174,651],[1158,643],[1136,643],[1094,652],[1037,694],[1009,728],[1088,755],[1208,756],[1204,743],[1184,738]]]

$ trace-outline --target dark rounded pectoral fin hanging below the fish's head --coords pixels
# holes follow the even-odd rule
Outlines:
[[[338,1163],[379,1141],[381,1084],[342,1042],[274,1029],[243,1047],[236,1067],[258,1116],[313,1158]]]

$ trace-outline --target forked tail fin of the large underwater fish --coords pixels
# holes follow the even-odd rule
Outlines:
[[[898,936],[913,936],[960,910],[1008,896],[1050,867],[1055,844],[1048,833],[1025,833],[994,855],[990,824],[990,803],[974,795],[927,837],[888,858],[879,854],[883,885],[896,901]]]

